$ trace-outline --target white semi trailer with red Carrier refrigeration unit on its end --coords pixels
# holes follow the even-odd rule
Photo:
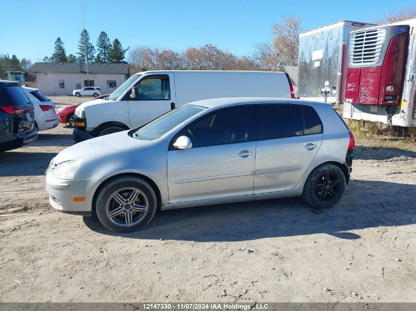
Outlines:
[[[351,31],[343,117],[416,126],[416,19]]]

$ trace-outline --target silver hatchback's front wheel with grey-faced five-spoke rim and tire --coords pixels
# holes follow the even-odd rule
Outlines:
[[[131,198],[133,192],[135,197]],[[96,199],[100,223],[114,232],[133,232],[143,228],[152,220],[156,207],[153,188],[135,176],[121,176],[108,181]]]

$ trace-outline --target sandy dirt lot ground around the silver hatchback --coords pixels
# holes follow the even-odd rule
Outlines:
[[[415,150],[358,146],[328,210],[196,207],[114,234],[49,207],[43,173],[70,134],[0,154],[2,302],[416,302]]]

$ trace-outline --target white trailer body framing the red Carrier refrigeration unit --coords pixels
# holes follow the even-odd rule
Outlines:
[[[343,117],[388,124],[389,122],[387,121],[387,116],[390,115],[390,124],[392,125],[416,127],[416,19],[371,28],[383,28],[383,26],[387,25],[410,26],[400,105],[386,106],[355,103],[351,104],[345,102]],[[387,110],[387,108],[389,109]]]

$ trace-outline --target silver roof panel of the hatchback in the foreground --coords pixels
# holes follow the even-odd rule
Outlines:
[[[252,105],[252,104],[297,104],[297,105],[331,105],[330,103],[317,102],[311,100],[299,100],[281,97],[227,97],[204,99],[190,103],[192,105],[203,106],[207,108],[221,108],[236,105]]]

